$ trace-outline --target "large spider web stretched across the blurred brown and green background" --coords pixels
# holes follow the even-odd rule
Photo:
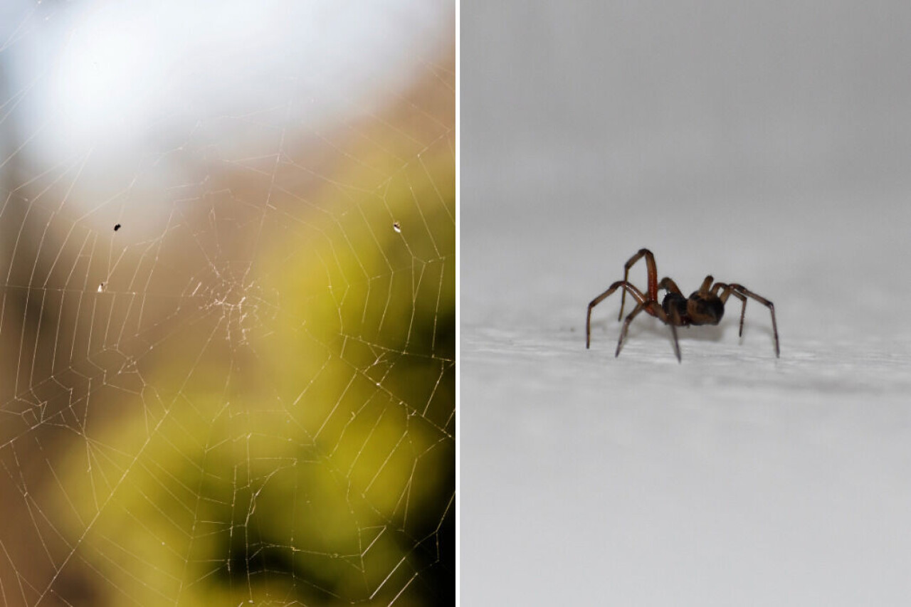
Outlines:
[[[140,6],[0,15],[0,602],[452,601],[454,6]]]

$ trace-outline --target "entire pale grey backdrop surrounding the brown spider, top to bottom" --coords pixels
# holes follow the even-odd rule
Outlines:
[[[911,3],[468,0],[461,32],[464,603],[911,600]],[[617,298],[586,350],[642,246],[772,299],[781,358],[758,304],[681,365],[642,314],[614,358]]]

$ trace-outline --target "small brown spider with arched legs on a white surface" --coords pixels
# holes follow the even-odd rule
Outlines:
[[[630,276],[630,268],[642,257],[645,257],[645,264],[649,270],[649,290],[646,293],[642,293],[627,280]],[[620,338],[617,342],[617,352],[614,354],[615,356],[619,356],[620,354],[620,347],[623,345],[623,339],[626,337],[627,329],[630,328],[632,319],[642,310],[645,310],[652,316],[658,318],[662,323],[670,325],[670,333],[674,337],[674,354],[677,355],[677,361],[680,362],[681,347],[677,342],[677,327],[690,326],[691,324],[718,324],[724,315],[724,304],[731,295],[738,298],[743,303],[740,324],[741,336],[743,335],[743,314],[746,313],[746,298],[752,297],[752,299],[769,308],[769,311],[772,313],[772,332],[775,336],[775,356],[779,356],[778,327],[775,324],[775,306],[772,302],[756,293],[752,293],[752,291],[742,284],[712,284],[713,280],[714,279],[711,276],[706,276],[699,287],[699,291],[691,293],[689,298],[684,297],[681,290],[677,287],[677,284],[670,280],[670,278],[665,277],[661,279],[660,283],[658,282],[658,268],[655,266],[655,256],[652,255],[648,249],[640,249],[639,252],[630,257],[630,261],[626,262],[623,266],[623,280],[611,284],[607,291],[591,300],[591,303],[589,304],[589,315],[585,320],[585,347],[588,348],[591,343],[591,309],[604,301],[610,293],[613,293],[622,287],[623,296],[620,298],[620,314],[617,316],[617,320],[619,321],[623,318],[623,305],[626,303],[627,292],[636,300],[637,305],[630,315],[627,316],[626,322],[623,323],[623,329],[620,331]],[[664,300],[659,305],[658,292],[660,289],[663,289],[667,293],[664,295]]]

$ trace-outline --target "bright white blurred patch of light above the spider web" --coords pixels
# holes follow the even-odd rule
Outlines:
[[[201,128],[242,155],[272,137],[244,117],[281,108],[306,131],[374,112],[446,47],[451,11],[441,0],[71,5],[17,46],[10,86],[30,91],[26,153],[135,157],[179,149]]]

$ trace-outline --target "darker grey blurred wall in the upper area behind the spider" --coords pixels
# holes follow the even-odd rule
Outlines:
[[[469,1],[461,48],[466,194],[907,180],[906,2]]]

